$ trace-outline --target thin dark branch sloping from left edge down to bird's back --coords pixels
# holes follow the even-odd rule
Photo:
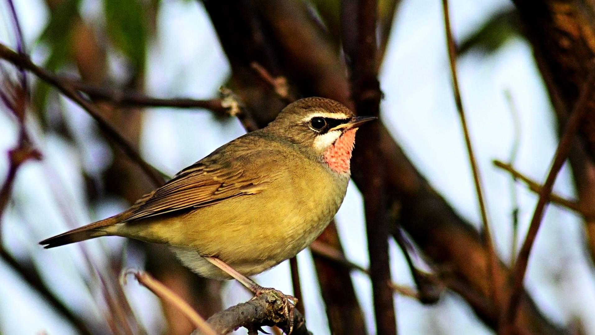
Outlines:
[[[136,162],[137,165],[139,165],[139,167],[151,179],[155,186],[160,186],[164,183],[164,177],[162,174],[159,173],[159,171],[157,171],[154,167],[149,165],[140,156],[139,152],[137,152],[136,149],[134,149],[134,147],[126,139],[124,139],[124,137],[122,137],[120,133],[118,133],[118,131],[115,130],[107,120],[105,120],[104,117],[101,116],[101,111],[99,111],[95,105],[85,99],[73,87],[69,86],[68,83],[61,82],[51,72],[38,67],[26,55],[19,55],[2,44],[0,44],[0,58],[10,61],[12,64],[20,65],[23,68],[26,68],[40,79],[52,84],[52,86],[60,90],[60,92],[62,92],[77,105],[82,107],[85,111],[87,111],[87,113],[89,113],[89,115],[91,115],[91,117],[93,117],[93,119],[98,123],[99,129],[107,134],[110,139],[114,140],[114,142],[117,143],[117,145],[120,146],[120,148],[128,156],[130,156],[130,158]]]

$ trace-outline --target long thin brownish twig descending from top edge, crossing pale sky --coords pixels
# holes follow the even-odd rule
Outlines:
[[[471,137],[469,136],[469,129],[467,126],[467,121],[465,118],[465,109],[463,108],[463,102],[461,99],[461,92],[459,90],[459,81],[456,75],[456,46],[455,41],[453,40],[452,31],[450,28],[450,15],[448,10],[448,0],[442,0],[442,9],[444,14],[444,30],[446,32],[446,45],[448,49],[449,55],[449,63],[450,63],[450,74],[452,76],[452,87],[453,93],[455,95],[455,104],[456,109],[459,113],[459,118],[461,118],[461,126],[463,128],[463,133],[465,135],[465,145],[467,148],[467,154],[469,156],[469,165],[471,165],[471,170],[473,172],[473,181],[475,184],[475,192],[477,193],[477,201],[479,202],[480,212],[481,212],[481,221],[483,223],[483,234],[484,239],[486,242],[486,249],[488,253],[488,264],[487,264],[487,273],[491,276],[490,281],[488,283],[491,284],[492,289],[492,299],[494,300],[494,306],[498,308],[500,306],[500,290],[498,289],[499,285],[497,281],[497,267],[498,267],[498,260],[496,258],[496,252],[494,251],[493,242],[491,239],[491,231],[490,231],[490,224],[487,218],[487,210],[486,210],[486,203],[484,201],[483,192],[481,190],[481,177],[480,171],[477,167],[477,161],[475,160],[475,154],[473,152],[473,146],[471,144]]]

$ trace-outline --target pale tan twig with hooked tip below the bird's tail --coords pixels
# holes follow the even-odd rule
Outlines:
[[[158,296],[159,299],[176,306],[176,308],[182,314],[184,314],[197,329],[201,330],[203,334],[217,335],[217,332],[215,332],[211,325],[206,323],[206,320],[202,318],[201,315],[199,315],[198,312],[192,308],[192,306],[190,306],[186,301],[184,301],[184,299],[180,298],[180,296],[174,293],[172,290],[168,289],[167,286],[151,277],[151,275],[148,273],[135,270],[127,270],[123,273],[124,284],[126,284],[126,276],[129,274],[134,275],[134,278],[136,278],[140,284],[151,290],[151,292]]]

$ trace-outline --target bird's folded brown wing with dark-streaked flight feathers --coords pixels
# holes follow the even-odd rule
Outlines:
[[[265,184],[255,180],[258,179],[247,176],[243,170],[213,164],[207,167],[198,162],[135,203],[124,222],[256,194],[264,189]]]

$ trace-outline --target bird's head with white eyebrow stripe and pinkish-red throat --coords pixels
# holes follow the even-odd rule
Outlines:
[[[356,117],[339,102],[313,97],[287,105],[267,128],[332,171],[349,174],[355,132],[375,119]]]

